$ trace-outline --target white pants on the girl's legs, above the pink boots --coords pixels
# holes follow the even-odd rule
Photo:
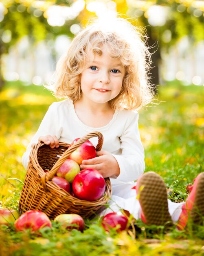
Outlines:
[[[103,210],[99,216],[104,216],[110,212],[118,212],[121,209],[129,211],[137,220],[140,218],[140,204],[136,199],[136,190],[132,189],[136,183],[132,184],[112,184],[112,196],[108,201],[108,208]],[[185,202],[174,203],[168,199],[168,207],[171,218],[176,222],[182,211],[181,207]]]

